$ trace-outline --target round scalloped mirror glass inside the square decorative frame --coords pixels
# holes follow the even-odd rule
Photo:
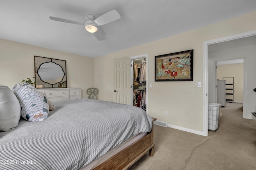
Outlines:
[[[65,73],[59,64],[48,62],[40,65],[37,74],[43,82],[57,84],[63,80]]]

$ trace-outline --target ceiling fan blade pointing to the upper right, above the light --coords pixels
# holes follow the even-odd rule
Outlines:
[[[110,23],[112,21],[116,21],[120,19],[121,16],[116,10],[112,10],[107,12],[106,14],[103,14],[102,16],[96,18],[94,22],[97,23],[98,26],[104,25],[106,23]]]

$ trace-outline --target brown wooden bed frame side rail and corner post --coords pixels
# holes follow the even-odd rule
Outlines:
[[[142,156],[149,151],[149,155],[154,155],[154,121],[156,118],[153,118],[152,121],[152,130],[150,133],[147,133],[140,140],[130,145],[126,149],[118,152],[116,155],[112,156],[94,170],[126,170],[137,162]]]

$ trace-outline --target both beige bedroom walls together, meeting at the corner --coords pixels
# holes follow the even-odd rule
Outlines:
[[[99,88],[99,99],[113,101],[113,59],[148,54],[148,113],[170,127],[203,131],[203,42],[256,30],[256,12],[222,21],[96,59],[0,39],[0,84],[9,88],[34,76],[34,55],[67,61],[68,87]],[[154,56],[194,49],[192,82],[154,82]],[[255,97],[255,94],[254,96]],[[255,103],[255,102],[254,102]],[[164,115],[168,111],[168,116]]]

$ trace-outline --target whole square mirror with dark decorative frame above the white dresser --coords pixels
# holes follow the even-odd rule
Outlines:
[[[34,56],[36,88],[66,88],[66,61]]]

